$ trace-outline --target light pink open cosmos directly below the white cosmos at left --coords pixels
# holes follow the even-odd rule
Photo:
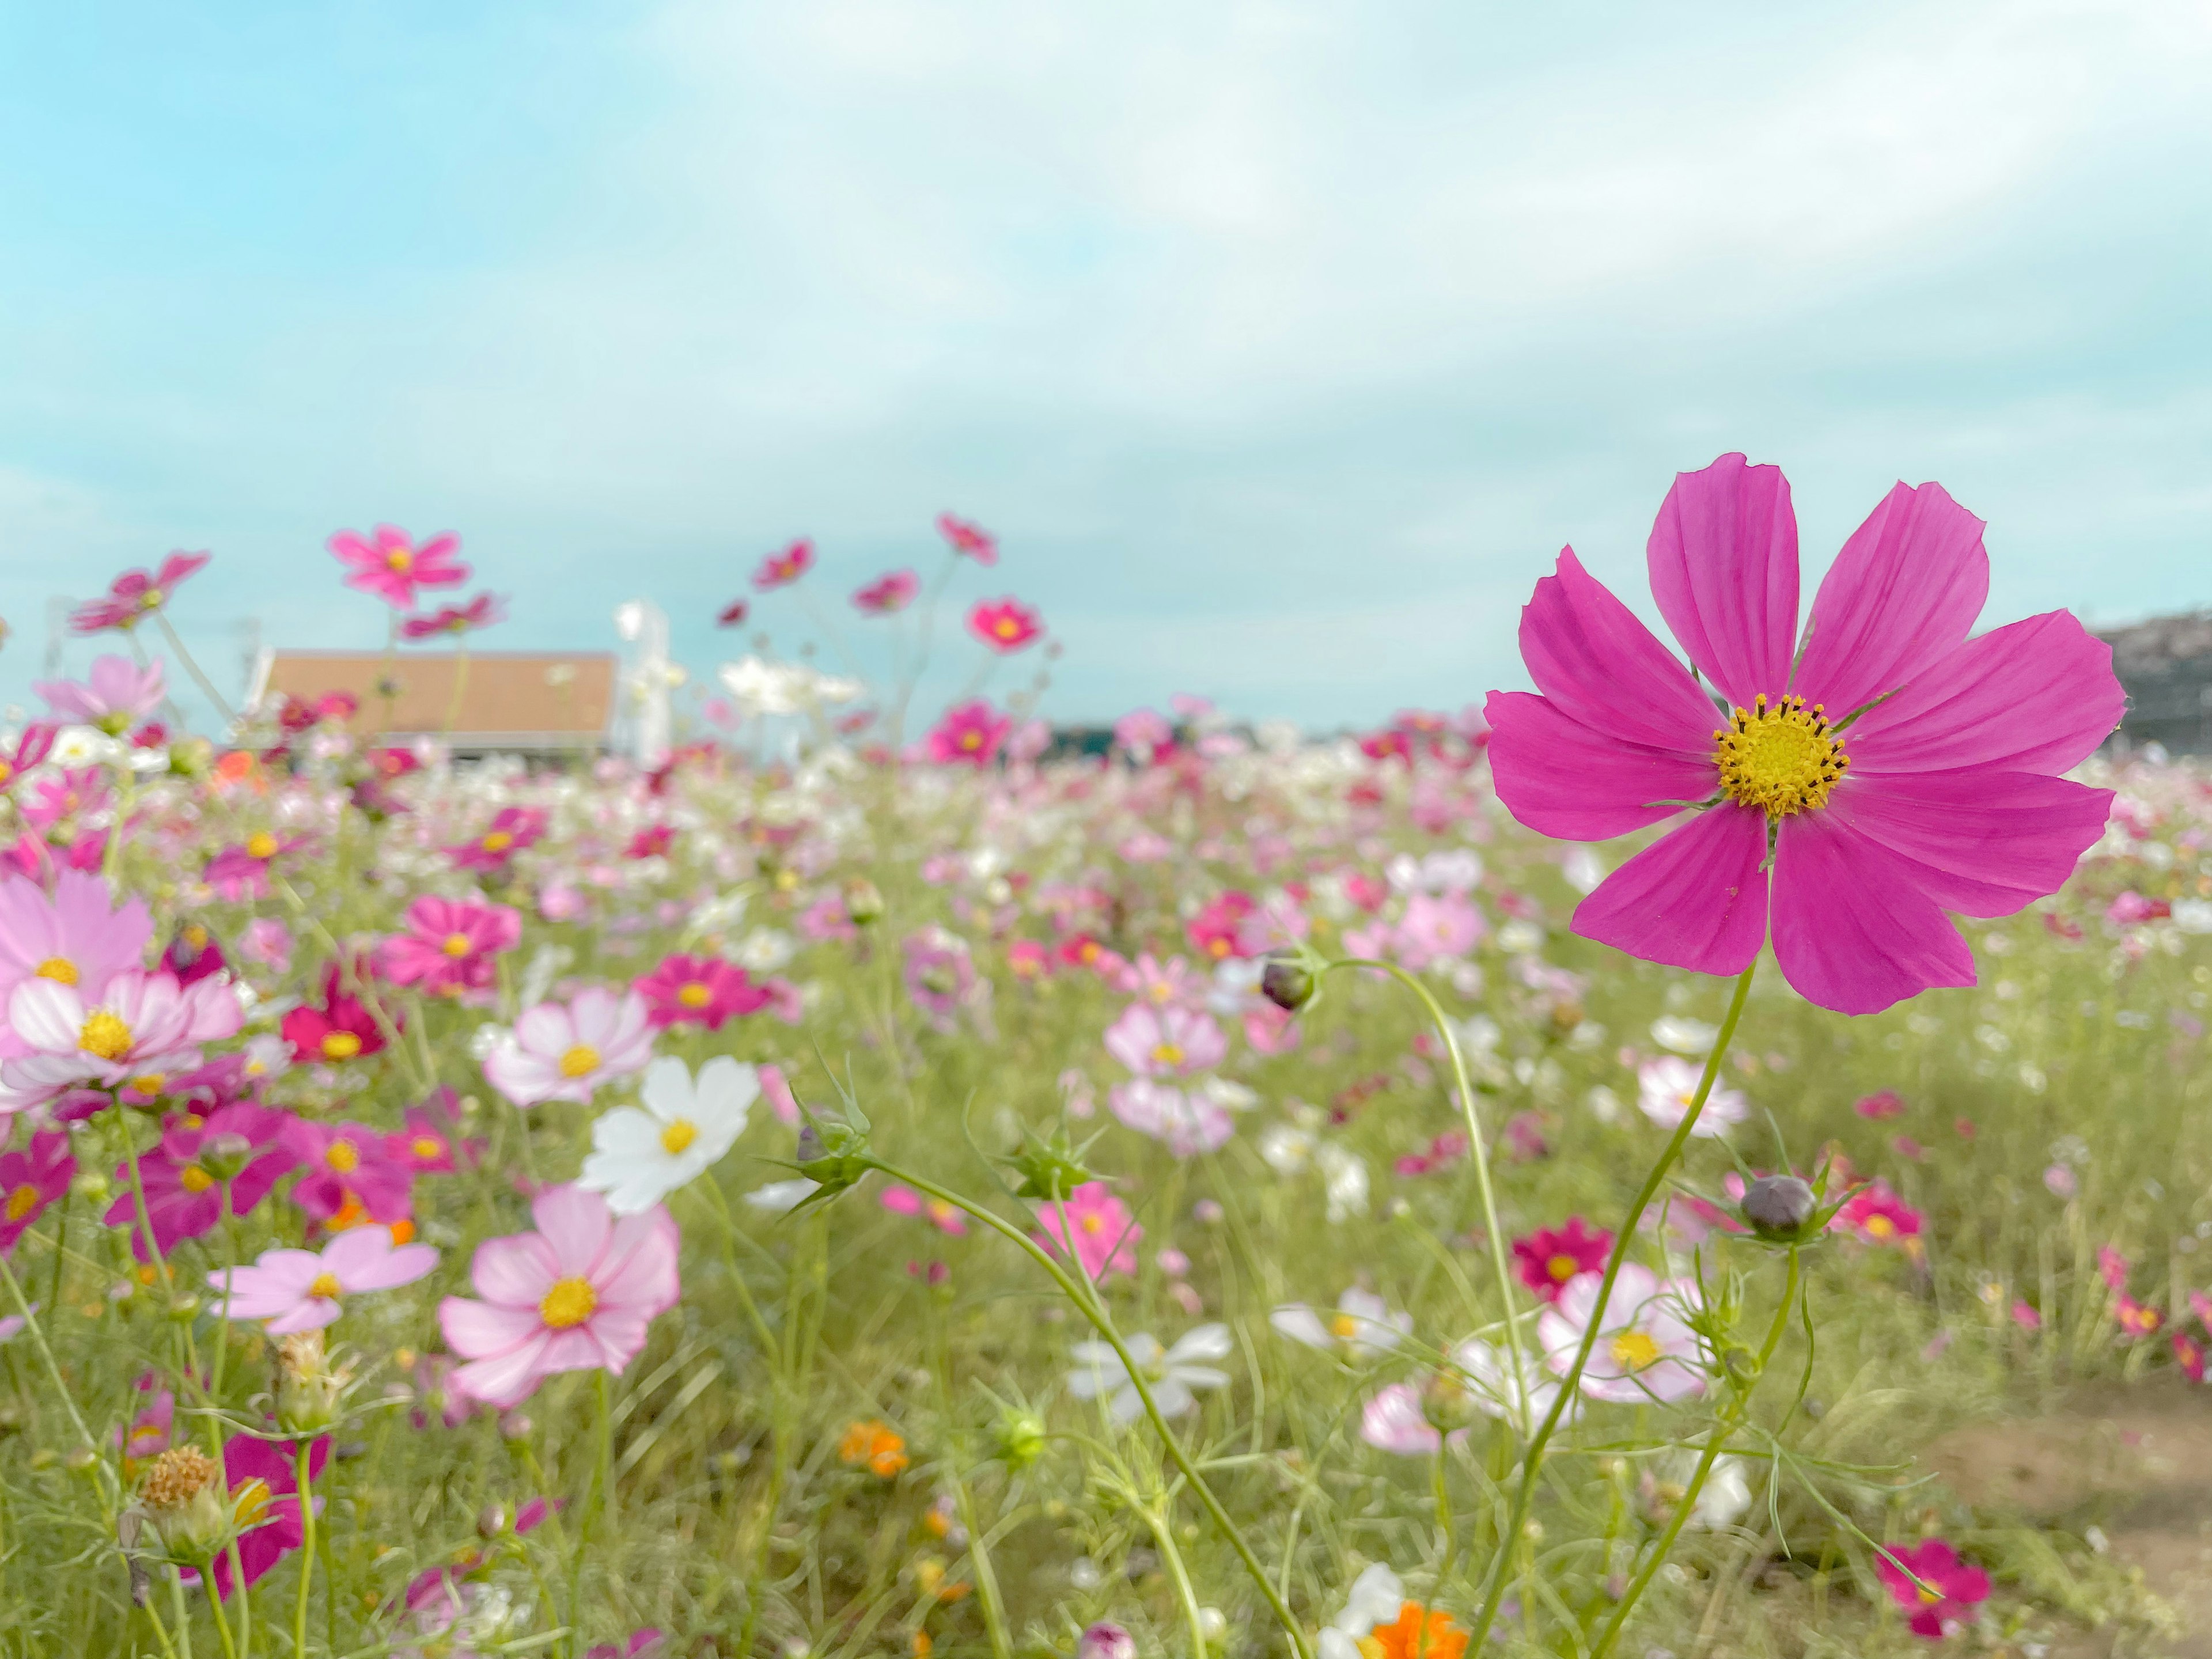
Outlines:
[[[531,1219],[535,1232],[476,1248],[469,1281],[482,1301],[438,1305],[447,1347],[469,1360],[453,1387],[502,1411],[560,1371],[619,1376],[681,1294],[677,1223],[661,1206],[617,1221],[597,1192],[555,1186]]]

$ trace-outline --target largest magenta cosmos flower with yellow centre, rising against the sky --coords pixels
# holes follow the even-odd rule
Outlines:
[[[1498,796],[1540,834],[1697,812],[1575,931],[1699,973],[1741,973],[1772,933],[1790,984],[1840,1013],[1973,984],[1944,911],[2017,911],[2104,830],[2110,790],[2057,774],[2119,721],[2110,646],[2066,611],[1969,639],[1989,555],[1940,484],[1898,484],[1851,533],[1803,639],[1781,469],[1681,473],[1648,562],[1694,675],[1566,549],[1522,613],[1537,695],[1484,708]]]

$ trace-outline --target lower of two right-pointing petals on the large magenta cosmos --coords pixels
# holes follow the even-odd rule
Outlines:
[[[2066,885],[2112,792],[2037,772],[1854,772],[1827,810],[1907,858],[1942,909],[2011,916]]]

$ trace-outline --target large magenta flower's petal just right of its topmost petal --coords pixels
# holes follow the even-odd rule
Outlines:
[[[1942,484],[1898,484],[1820,577],[1792,690],[1843,719],[1966,644],[1986,597],[1982,520]]]

